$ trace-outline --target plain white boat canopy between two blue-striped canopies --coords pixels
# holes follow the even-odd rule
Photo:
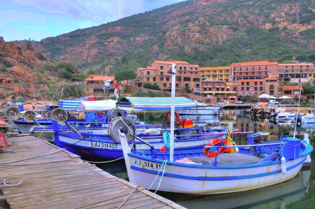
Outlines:
[[[99,100],[99,101],[84,101],[77,106],[77,112],[104,112],[116,108],[116,101]]]

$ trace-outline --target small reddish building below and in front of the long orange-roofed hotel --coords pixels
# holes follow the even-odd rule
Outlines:
[[[243,79],[238,81],[238,97],[258,97],[265,93],[265,79]]]

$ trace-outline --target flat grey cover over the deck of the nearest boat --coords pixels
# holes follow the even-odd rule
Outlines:
[[[214,157],[196,156],[196,157],[186,157],[189,160],[202,163],[203,165],[213,165],[215,161]],[[260,157],[253,155],[247,155],[243,153],[222,153],[217,156],[217,165],[220,166],[232,166],[232,165],[246,165],[258,163],[261,160]]]

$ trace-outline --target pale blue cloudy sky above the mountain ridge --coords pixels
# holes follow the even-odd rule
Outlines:
[[[5,41],[58,36],[183,0],[0,0]]]

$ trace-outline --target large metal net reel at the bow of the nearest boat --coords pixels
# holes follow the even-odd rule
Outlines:
[[[127,130],[125,133],[128,142],[134,139],[135,135],[135,123],[128,117],[116,117],[108,124],[109,137],[120,144],[119,130],[124,128]]]

